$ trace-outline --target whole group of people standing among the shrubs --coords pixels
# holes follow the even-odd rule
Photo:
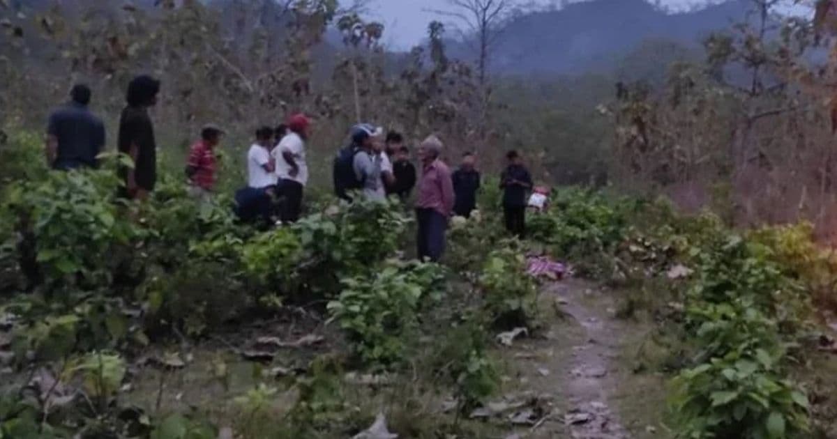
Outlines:
[[[148,75],[137,76],[128,84],[126,107],[122,110],[117,139],[118,150],[131,157],[133,166],[121,166],[124,181],[121,196],[144,200],[157,182],[157,145],[148,109],[157,104],[160,81]],[[98,167],[98,156],[105,146],[105,127],[88,109],[91,91],[77,84],[70,101],[49,117],[46,156],[56,170]],[[302,212],[308,183],[306,141],[311,120],[303,114],[291,115],[286,124],[260,127],[247,152],[247,186],[236,193],[236,213],[245,221],[263,218],[271,222],[295,222]],[[193,197],[211,197],[217,181],[215,148],[224,131],[217,125],[204,125],[200,138],[189,151],[185,173]],[[407,202],[418,186],[414,201],[418,219],[419,258],[437,261],[444,253],[445,231],[452,216],[470,217],[476,208],[480,172],[475,155],[465,153],[459,168],[451,172],[442,161],[444,145],[431,135],[419,144],[421,178],[410,161],[403,135],[380,127],[359,124],[349,133],[351,143],[338,151],[333,163],[333,183],[337,197],[352,202],[353,197],[383,201],[398,197]],[[525,232],[527,194],[532,191],[531,175],[516,151],[501,175],[504,191],[506,228],[522,237]],[[535,195],[540,192],[536,191]],[[542,194],[540,194],[542,195]],[[532,197],[535,199],[536,197]]]

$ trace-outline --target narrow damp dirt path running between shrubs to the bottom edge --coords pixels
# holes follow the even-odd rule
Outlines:
[[[539,420],[509,436],[538,439],[660,439],[662,380],[634,375],[631,362],[644,328],[614,318],[619,292],[567,280],[541,297],[542,336],[516,339],[501,355],[515,376],[506,401],[521,392],[542,402]],[[516,435],[516,436],[515,436]]]

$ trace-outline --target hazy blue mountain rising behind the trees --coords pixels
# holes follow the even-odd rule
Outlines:
[[[581,74],[613,71],[649,42],[667,42],[662,58],[699,53],[701,39],[747,16],[750,0],[728,0],[685,13],[666,13],[645,0],[589,0],[511,18],[502,29],[491,69],[496,74]],[[651,44],[653,47],[654,44]],[[451,53],[475,51],[454,43]],[[662,61],[662,60],[660,60]]]

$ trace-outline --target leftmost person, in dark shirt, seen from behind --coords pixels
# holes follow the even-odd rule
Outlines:
[[[105,124],[87,108],[91,94],[87,85],[75,84],[69,103],[49,115],[46,156],[52,169],[99,167],[96,157],[105,147]]]

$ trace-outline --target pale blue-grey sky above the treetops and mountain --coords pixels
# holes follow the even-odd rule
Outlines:
[[[536,0],[537,2],[537,0]],[[550,0],[541,0],[548,5]],[[670,8],[685,8],[699,0],[661,0]],[[427,34],[427,24],[439,16],[434,9],[447,8],[446,0],[373,0],[370,15],[386,25],[383,43],[391,48],[406,49],[419,43]],[[445,21],[440,20],[440,21]]]

